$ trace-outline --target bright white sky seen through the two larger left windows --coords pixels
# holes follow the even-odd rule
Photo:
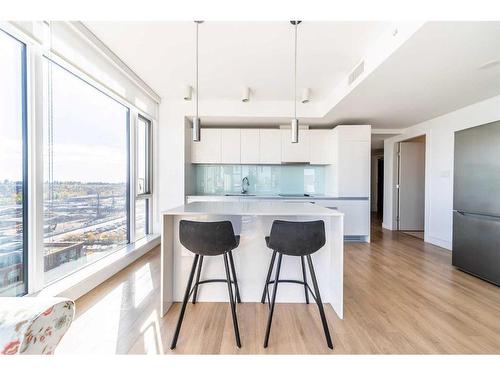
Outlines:
[[[21,44],[0,33],[0,181],[22,172],[20,57]],[[52,82],[54,180],[125,182],[127,108],[57,65]],[[43,137],[48,170],[48,124]]]

